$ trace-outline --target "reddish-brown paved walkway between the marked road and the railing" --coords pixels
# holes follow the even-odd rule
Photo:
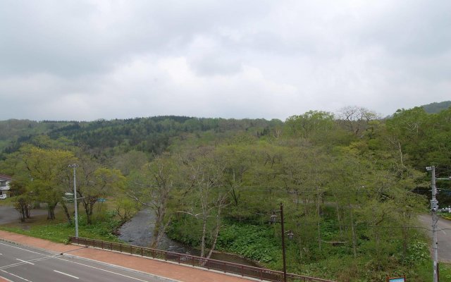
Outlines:
[[[226,274],[217,273],[214,271],[207,271],[197,269],[191,266],[183,266],[180,264],[172,264],[168,262],[160,262],[155,259],[147,259],[144,257],[137,257],[118,252],[109,252],[106,250],[98,250],[92,247],[82,247],[78,245],[64,245],[60,243],[53,243],[48,240],[39,238],[32,238],[26,235],[0,231],[0,240],[7,240],[18,243],[20,245],[27,245],[30,247],[38,247],[40,249],[48,250],[50,252],[63,253],[63,255],[73,255],[75,257],[82,257],[85,259],[94,259],[99,262],[107,264],[114,264],[123,266],[128,269],[154,274],[173,281],[183,282],[249,282],[250,279],[230,276]],[[3,282],[0,277],[0,282]]]

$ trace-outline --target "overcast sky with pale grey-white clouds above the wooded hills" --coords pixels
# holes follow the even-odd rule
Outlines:
[[[451,100],[449,0],[0,1],[0,120]]]

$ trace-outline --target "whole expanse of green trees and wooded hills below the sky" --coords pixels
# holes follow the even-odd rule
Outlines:
[[[449,104],[448,104],[449,106]],[[32,202],[48,218],[63,207],[78,164],[88,221],[109,197],[123,221],[155,213],[162,233],[280,270],[283,204],[288,271],[337,281],[423,281],[428,240],[426,166],[451,175],[451,107],[400,109],[388,118],[357,106],[273,119],[158,116],[128,120],[0,121],[0,173],[13,176],[23,218]],[[451,181],[439,180],[441,205]],[[277,220],[276,220],[277,221]]]

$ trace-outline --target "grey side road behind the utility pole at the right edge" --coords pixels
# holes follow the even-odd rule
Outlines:
[[[429,214],[419,216],[421,223],[432,230],[432,219]],[[440,262],[451,262],[451,221],[438,219],[438,260]],[[432,231],[428,231],[432,238]]]

